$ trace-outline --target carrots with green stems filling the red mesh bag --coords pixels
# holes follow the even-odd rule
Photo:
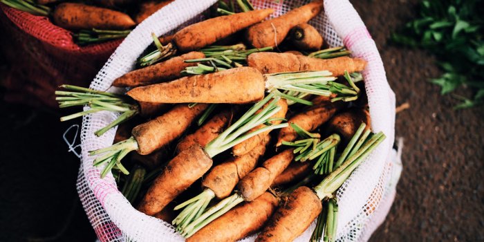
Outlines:
[[[53,24],[73,31],[77,44],[120,39],[141,21],[174,0],[1,0],[32,15],[50,17]]]

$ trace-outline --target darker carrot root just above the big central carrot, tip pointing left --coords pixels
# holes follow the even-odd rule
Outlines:
[[[165,62],[160,62],[145,68],[126,73],[113,82],[113,86],[135,87],[166,82],[181,77],[181,71],[187,66],[196,66],[196,63],[186,63],[187,59],[205,58],[201,52],[190,52],[178,57],[173,57]]]

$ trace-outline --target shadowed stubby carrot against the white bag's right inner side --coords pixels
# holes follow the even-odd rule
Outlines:
[[[370,113],[366,109],[350,109],[343,113],[338,113],[328,121],[328,131],[339,133],[344,140],[349,140],[364,122],[366,129],[371,127]]]

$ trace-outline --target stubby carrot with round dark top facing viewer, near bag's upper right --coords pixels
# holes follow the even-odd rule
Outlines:
[[[298,24],[290,31],[290,41],[299,50],[319,50],[323,37],[309,24]]]

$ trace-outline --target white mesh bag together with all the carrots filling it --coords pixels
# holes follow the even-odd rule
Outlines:
[[[174,1],[55,94],[101,241],[364,241],[395,196],[395,96],[348,1]]]

